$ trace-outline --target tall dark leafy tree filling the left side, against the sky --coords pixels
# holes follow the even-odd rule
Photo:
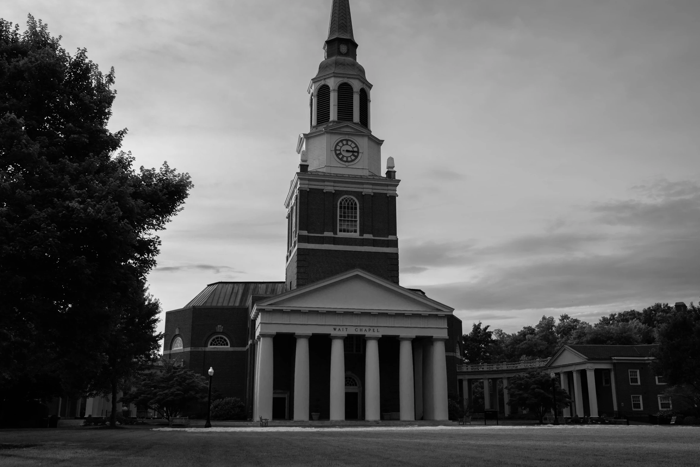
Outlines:
[[[134,169],[85,49],[0,19],[0,398],[82,391],[191,182]]]

